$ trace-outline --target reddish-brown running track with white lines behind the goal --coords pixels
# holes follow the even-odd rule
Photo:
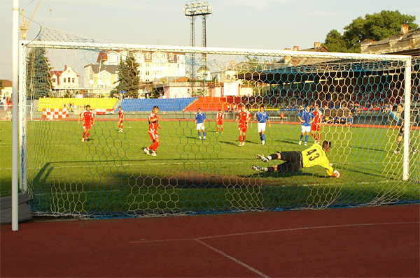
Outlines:
[[[419,277],[419,205],[1,226],[1,277]]]

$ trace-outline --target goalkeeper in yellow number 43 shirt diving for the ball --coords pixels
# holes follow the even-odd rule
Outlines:
[[[309,149],[302,150],[302,152],[276,152],[276,154],[270,154],[267,157],[255,154],[255,159],[260,159],[263,162],[268,162],[274,159],[279,159],[285,162],[270,167],[251,166],[251,169],[265,172],[277,171],[279,173],[294,173],[300,170],[300,168],[308,168],[318,165],[325,168],[328,176],[339,177],[339,172],[332,168],[327,154],[325,154],[325,152],[328,152],[330,148],[331,142],[324,140],[322,142],[322,146],[315,143]]]

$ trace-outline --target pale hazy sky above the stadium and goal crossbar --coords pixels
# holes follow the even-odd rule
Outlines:
[[[39,0],[20,0],[30,17]],[[332,29],[342,33],[352,20],[381,10],[416,15],[419,0],[209,0],[207,46],[248,49],[300,49],[323,43]],[[190,45],[190,21],[179,0],[43,0],[28,30],[40,26],[109,43]],[[12,76],[12,0],[0,0],[0,79]],[[195,21],[195,44],[201,46],[202,23]],[[60,69],[59,69],[60,70]]]

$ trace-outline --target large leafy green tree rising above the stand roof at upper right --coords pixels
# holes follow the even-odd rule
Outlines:
[[[332,52],[360,52],[360,43],[366,39],[380,41],[400,34],[401,25],[408,24],[409,29],[419,26],[414,23],[415,15],[402,15],[398,10],[382,10],[380,13],[357,17],[344,27],[344,33],[332,29],[325,38],[325,45]]]

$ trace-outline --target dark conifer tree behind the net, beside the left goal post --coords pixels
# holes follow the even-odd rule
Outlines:
[[[27,58],[27,95],[34,98],[48,96],[52,88],[50,61],[45,49],[34,47]]]

